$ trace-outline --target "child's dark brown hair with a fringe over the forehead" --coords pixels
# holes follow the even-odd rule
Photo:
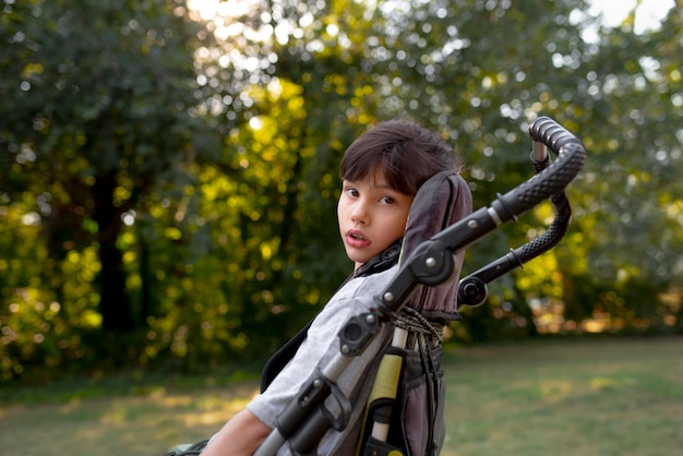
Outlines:
[[[339,175],[359,181],[378,167],[393,189],[414,195],[436,172],[459,172],[462,164],[436,133],[409,120],[387,120],[354,141],[344,153]]]

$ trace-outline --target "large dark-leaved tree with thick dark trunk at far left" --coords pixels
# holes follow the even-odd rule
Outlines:
[[[145,321],[128,289],[124,218],[202,154],[200,27],[183,2],[161,0],[4,2],[1,21],[4,196],[44,195],[53,262],[97,245],[103,328],[131,332]]]

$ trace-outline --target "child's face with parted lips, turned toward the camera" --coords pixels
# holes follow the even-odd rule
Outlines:
[[[339,233],[356,267],[404,235],[412,200],[391,188],[382,169],[358,182],[344,181],[337,205]]]

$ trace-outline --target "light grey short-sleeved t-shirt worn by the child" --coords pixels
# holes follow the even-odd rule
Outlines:
[[[254,397],[247,408],[261,421],[277,427],[278,415],[297,397],[301,386],[317,368],[325,368],[339,353],[339,329],[352,316],[375,307],[376,297],[396,274],[397,266],[387,271],[357,277],[342,287],[317,314],[295,357],[273,380],[267,389]],[[321,441],[319,455],[349,455],[356,449],[366,401],[381,355],[391,341],[393,326],[383,325],[380,334],[356,357],[338,379],[337,386],[352,405],[349,425],[342,432],[331,430]],[[285,454],[284,448],[277,453]]]

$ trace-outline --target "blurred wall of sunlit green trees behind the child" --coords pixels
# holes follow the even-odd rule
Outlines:
[[[350,271],[338,160],[393,117],[460,152],[476,207],[530,176],[537,116],[589,153],[570,235],[454,339],[682,328],[680,4],[637,31],[568,0],[0,4],[5,381],[273,351]]]

